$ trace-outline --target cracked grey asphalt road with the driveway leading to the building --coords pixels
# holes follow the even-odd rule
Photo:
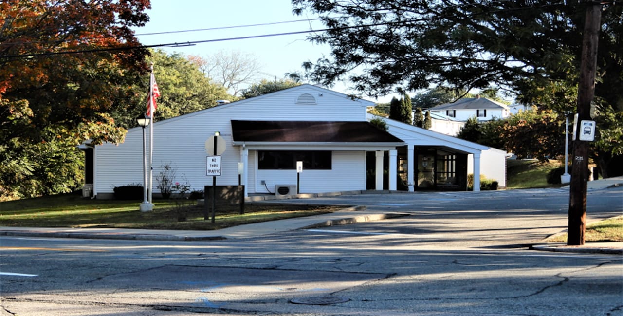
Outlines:
[[[592,191],[589,219],[621,214]],[[201,242],[0,238],[2,315],[623,315],[621,256],[531,251],[568,192],[340,196],[402,218]]]

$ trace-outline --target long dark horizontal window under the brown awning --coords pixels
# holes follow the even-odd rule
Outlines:
[[[257,151],[257,168],[261,170],[294,170],[303,161],[303,170],[331,170],[331,151]]]

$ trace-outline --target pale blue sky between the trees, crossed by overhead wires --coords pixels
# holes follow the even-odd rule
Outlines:
[[[216,27],[244,26],[272,22],[314,19],[316,16],[295,16],[290,0],[152,0],[147,13],[150,22],[136,29],[141,43],[168,44],[231,37],[259,36],[283,32],[323,29],[318,21],[292,22],[271,26],[237,27],[211,31],[180,32],[173,34],[140,35],[153,32],[186,31]],[[301,64],[315,61],[328,54],[328,46],[320,46],[305,40],[307,34],[217,41],[188,47],[164,47],[166,52],[180,52],[208,56],[219,50],[240,51],[253,54],[261,67],[262,77],[282,78],[286,72],[302,72]],[[347,86],[337,84],[331,88],[350,93]]]

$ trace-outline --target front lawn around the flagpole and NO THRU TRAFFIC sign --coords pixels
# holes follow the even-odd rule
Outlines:
[[[215,223],[212,224],[211,220],[204,220],[204,208],[196,206],[194,201],[186,200],[182,205],[174,200],[155,200],[154,210],[150,212],[139,211],[139,204],[140,201],[85,199],[77,194],[8,201],[0,203],[0,226],[212,230],[330,213],[338,209],[247,204],[245,214],[239,214],[239,206],[217,205]],[[178,221],[179,214],[185,214],[186,221]]]

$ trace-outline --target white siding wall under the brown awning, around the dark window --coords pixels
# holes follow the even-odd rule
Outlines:
[[[251,155],[249,154],[249,157]],[[257,155],[254,153],[254,165]],[[331,170],[305,170],[301,173],[300,193],[321,193],[366,189],[366,152],[333,151]],[[275,193],[275,184],[297,184],[296,170],[257,170],[249,193]]]

